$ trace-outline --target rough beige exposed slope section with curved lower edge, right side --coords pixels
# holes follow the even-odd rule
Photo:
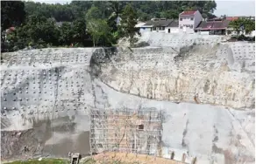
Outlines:
[[[98,50],[106,60],[101,64],[102,60],[95,60],[101,65],[98,77],[119,92],[147,99],[252,109],[253,46],[191,44],[178,51],[172,47],[118,49],[112,51],[115,55]]]

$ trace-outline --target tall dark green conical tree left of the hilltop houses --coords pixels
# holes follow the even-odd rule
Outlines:
[[[120,31],[123,37],[128,38],[130,46],[132,46],[137,40],[135,36],[139,33],[139,28],[135,25],[138,23],[138,15],[135,10],[132,9],[131,4],[127,4],[121,15]]]

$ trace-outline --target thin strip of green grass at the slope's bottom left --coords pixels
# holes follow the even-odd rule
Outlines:
[[[37,159],[28,161],[12,161],[6,164],[68,164],[68,161],[62,159],[42,159],[39,161]]]

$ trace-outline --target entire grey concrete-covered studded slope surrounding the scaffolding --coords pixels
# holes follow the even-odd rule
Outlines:
[[[253,44],[154,35],[144,48],[3,54],[2,161],[89,154],[91,110],[127,108],[163,113],[162,157],[254,163]]]

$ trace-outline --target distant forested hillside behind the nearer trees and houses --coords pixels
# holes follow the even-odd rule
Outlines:
[[[28,15],[41,14],[49,18],[54,17],[57,22],[72,22],[84,17],[89,9],[96,7],[100,10],[100,17],[107,19],[112,13],[119,16],[127,3],[138,10],[139,20],[149,20],[152,17],[179,17],[183,10],[199,10],[203,17],[212,18],[217,4],[215,1],[72,1],[69,4],[47,4],[25,2]],[[164,14],[164,16],[162,16]]]

